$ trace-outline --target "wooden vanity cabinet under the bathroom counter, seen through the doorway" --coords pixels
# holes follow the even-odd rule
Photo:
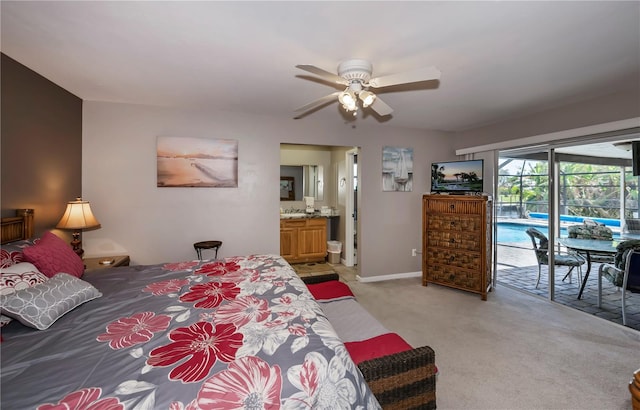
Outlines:
[[[280,255],[289,263],[324,261],[327,256],[327,219],[281,219]]]

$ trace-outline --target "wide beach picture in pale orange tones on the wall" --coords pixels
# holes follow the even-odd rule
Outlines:
[[[158,187],[238,187],[238,141],[158,137]]]

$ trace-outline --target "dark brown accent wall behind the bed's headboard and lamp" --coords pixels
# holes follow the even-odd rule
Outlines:
[[[82,99],[1,58],[1,212],[33,208],[40,236],[82,195]]]

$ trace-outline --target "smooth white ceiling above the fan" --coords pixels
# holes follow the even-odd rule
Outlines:
[[[629,87],[640,101],[637,1],[0,4],[2,52],[84,100],[293,119],[336,91],[296,64],[365,58],[373,76],[442,72],[379,94],[395,112],[368,123],[458,131]]]

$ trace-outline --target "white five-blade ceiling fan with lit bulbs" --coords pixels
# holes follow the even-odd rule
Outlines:
[[[316,74],[322,80],[344,85],[346,88],[344,91],[336,91],[296,109],[296,112],[300,114],[295,118],[300,118],[307,111],[328,104],[332,100],[339,101],[342,104],[342,108],[348,113],[353,113],[354,116],[358,113],[358,100],[362,103],[363,108],[371,107],[380,116],[389,115],[393,112],[393,109],[382,101],[380,97],[369,91],[370,88],[382,88],[440,78],[440,71],[435,67],[371,78],[373,66],[369,61],[362,59],[350,59],[341,62],[338,65],[337,75],[308,64],[301,64],[296,67]]]

